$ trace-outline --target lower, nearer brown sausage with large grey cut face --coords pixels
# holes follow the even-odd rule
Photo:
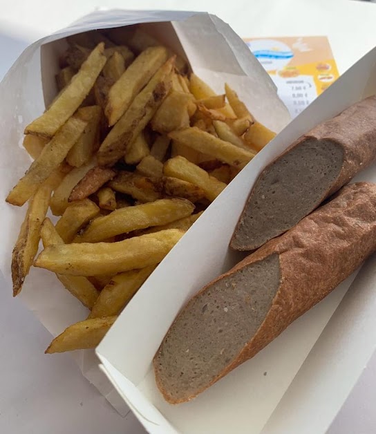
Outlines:
[[[376,185],[348,185],[187,303],[153,359],[164,398],[189,401],[256,355],[375,250]]]

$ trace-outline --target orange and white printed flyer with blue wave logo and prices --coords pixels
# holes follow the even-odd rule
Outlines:
[[[245,38],[278,88],[292,117],[338,77],[326,36]]]

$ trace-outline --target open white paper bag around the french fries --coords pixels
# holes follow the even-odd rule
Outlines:
[[[55,35],[37,41],[17,59],[0,86],[0,222],[1,227],[7,228],[2,236],[0,270],[9,286],[10,252],[26,207],[11,207],[4,199],[30,165],[30,158],[21,148],[23,129],[44,111],[44,102],[50,102],[56,94],[57,59],[64,49],[64,41],[60,39],[84,30],[134,23],[146,23],[149,32],[187,57],[194,72],[215,90],[223,93],[223,85],[228,82],[242,95],[254,115],[274,131],[280,131],[290,120],[272,80],[259,62],[231,28],[212,15],[168,11],[95,12]],[[210,267],[208,263],[208,270]],[[214,267],[208,276],[216,274],[217,270],[218,267]],[[10,291],[10,287],[6,290]],[[86,308],[64,290],[55,275],[45,270],[30,271],[20,297],[54,336],[88,314]],[[162,327],[165,325],[163,323]],[[133,350],[133,347],[126,349],[129,354]],[[77,351],[73,357],[85,377],[124,415],[128,408],[98,369],[95,353]],[[142,355],[139,357],[143,361]]]

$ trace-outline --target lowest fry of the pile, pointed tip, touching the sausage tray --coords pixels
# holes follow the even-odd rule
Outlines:
[[[46,354],[95,348],[117,317],[86,319],[70,325],[50,343]]]

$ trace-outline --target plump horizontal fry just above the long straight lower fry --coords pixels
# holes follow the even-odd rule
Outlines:
[[[134,207],[116,209],[107,216],[95,218],[74,241],[97,243],[111,236],[127,234],[137,229],[165,225],[178,218],[189,216],[193,211],[193,203],[179,198],[160,199]]]

